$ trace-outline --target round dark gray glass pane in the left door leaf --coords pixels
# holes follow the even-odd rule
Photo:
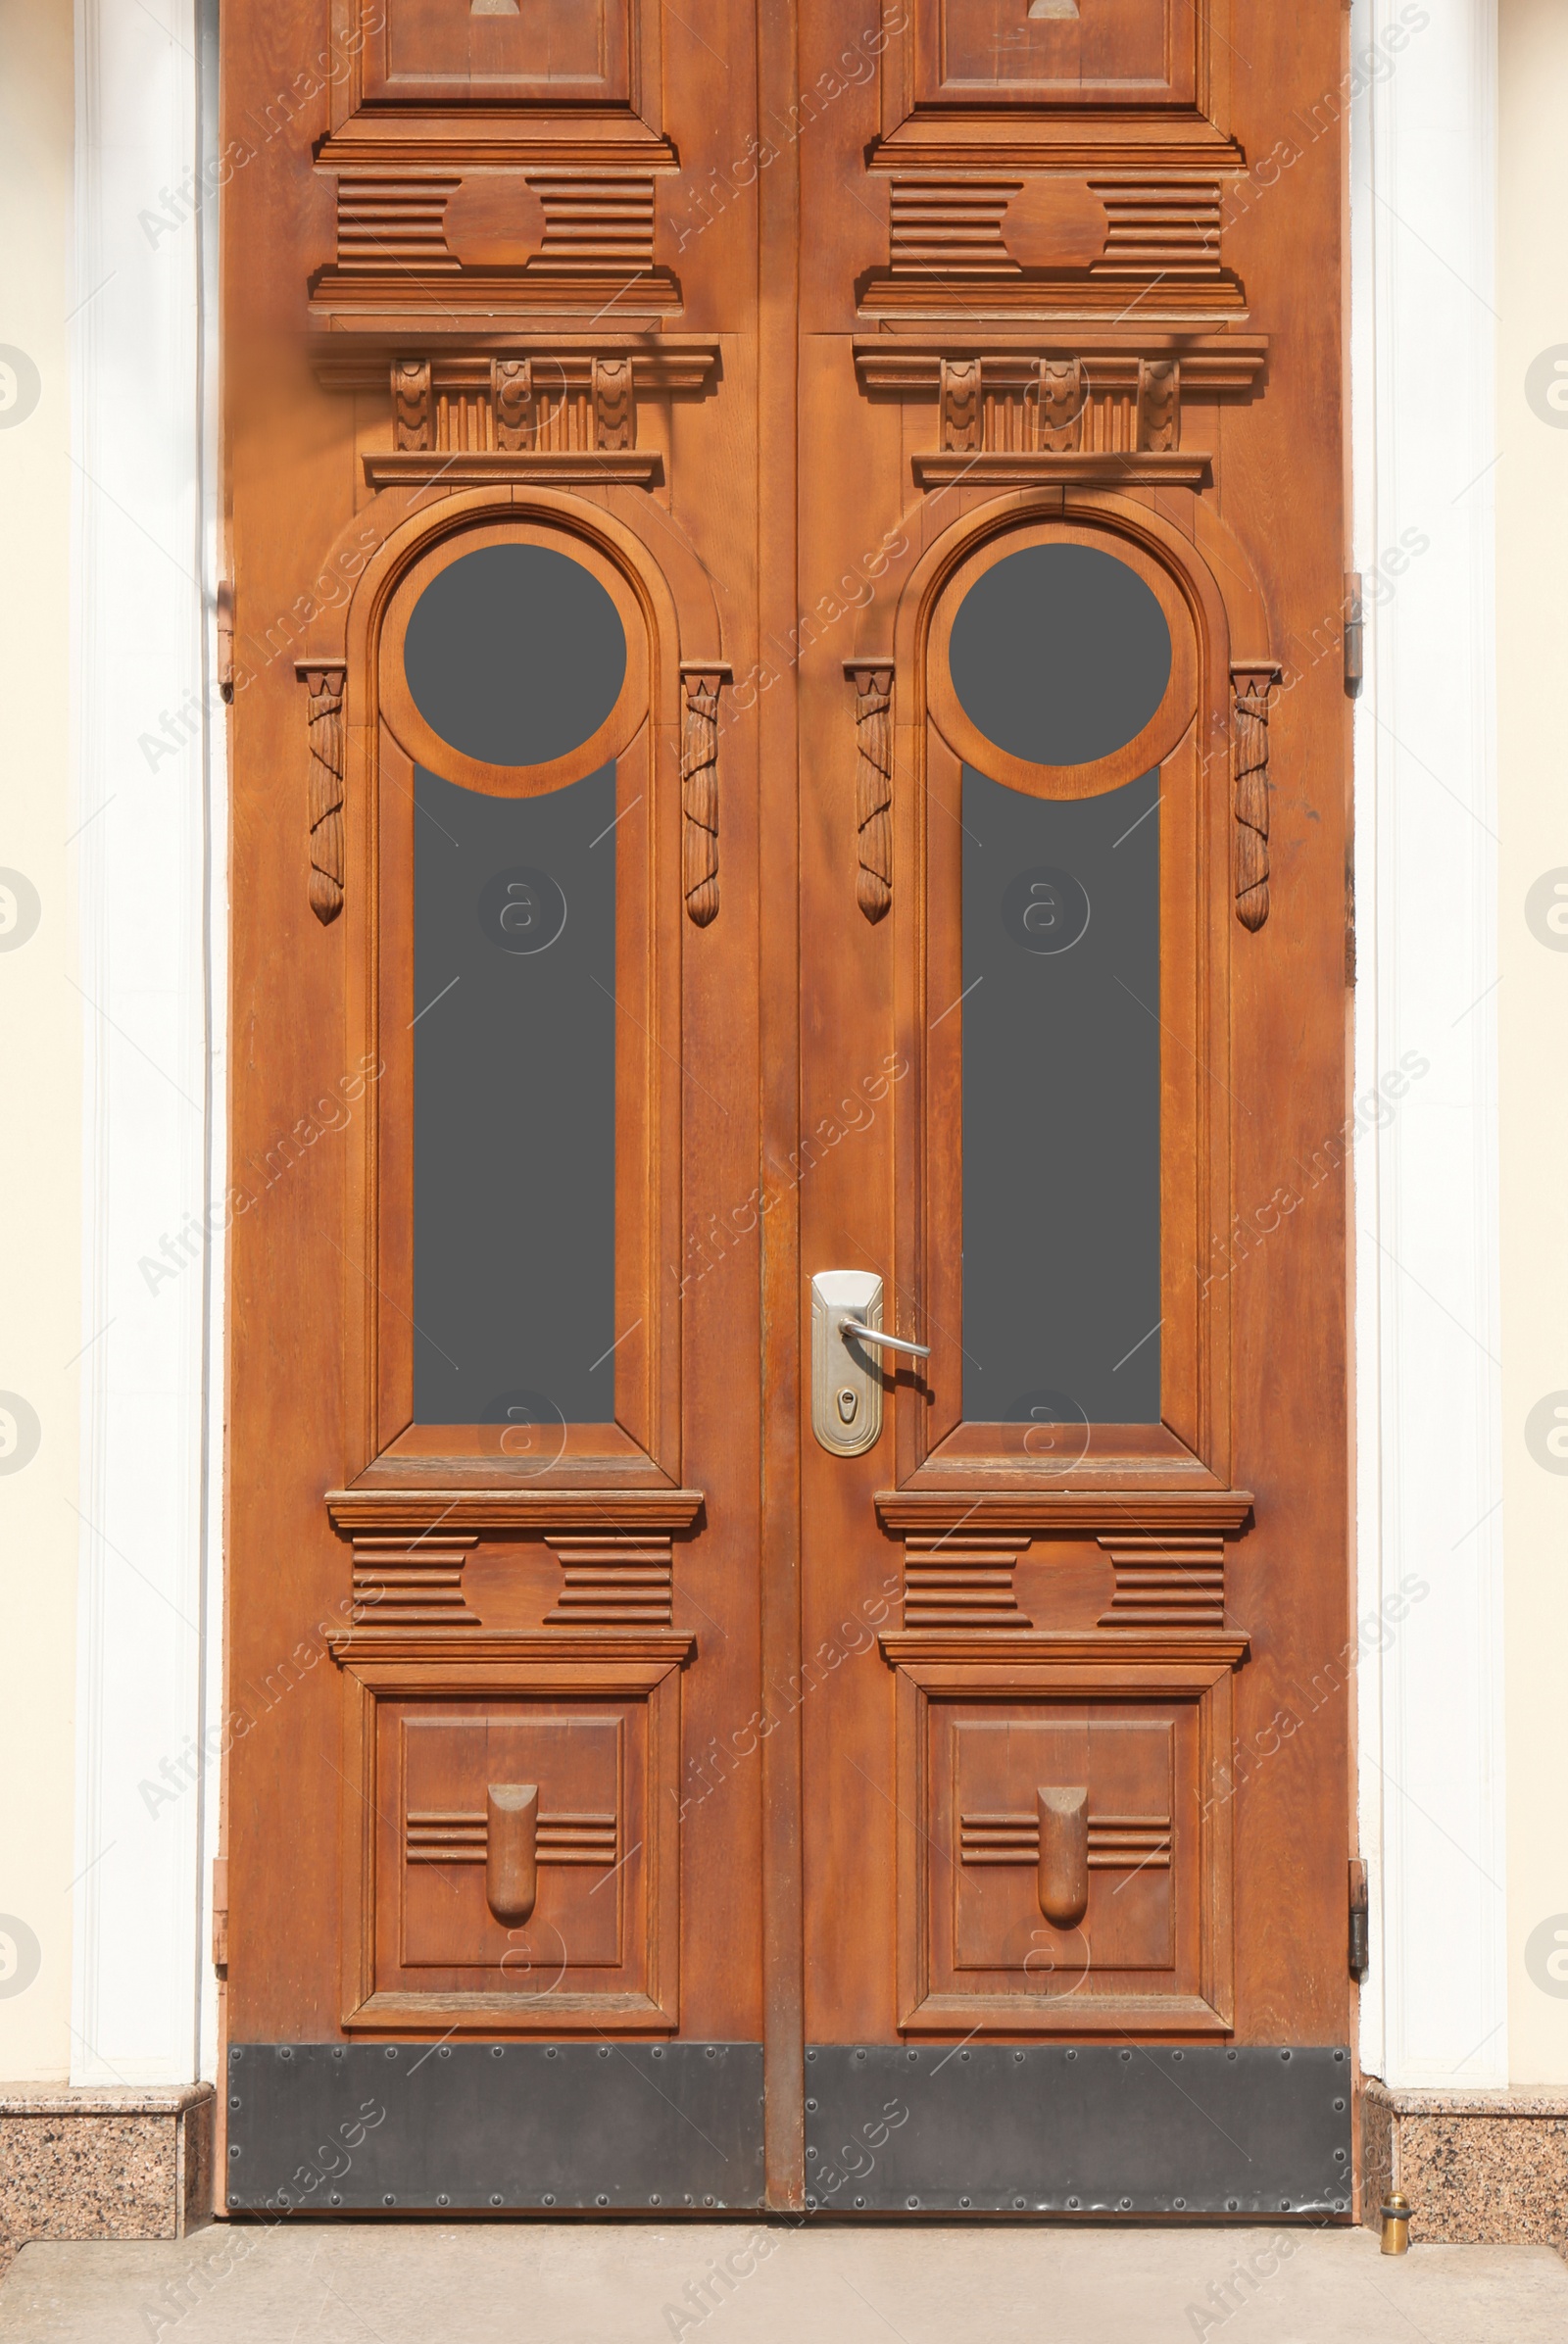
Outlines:
[[[546,764],[598,731],[626,680],[626,628],[600,581],[553,546],[478,546],[413,607],[413,703],[464,757]]]

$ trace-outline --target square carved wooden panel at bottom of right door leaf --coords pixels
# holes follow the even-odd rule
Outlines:
[[[1223,2030],[1230,1662],[1055,1648],[926,1660],[888,1638],[900,2025]]]

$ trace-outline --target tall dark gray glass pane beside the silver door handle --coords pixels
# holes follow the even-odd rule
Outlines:
[[[1160,1420],[1158,802],[1158,774],[1038,799],[963,771],[973,1423]]]

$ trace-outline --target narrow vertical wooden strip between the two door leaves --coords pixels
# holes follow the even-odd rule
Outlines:
[[[757,9],[757,117],[795,122],[795,0]],[[799,624],[799,145],[757,173],[757,656]],[[802,1718],[802,1360],[799,1188],[799,708],[795,670],[757,694],[757,1001],[762,1195],[762,2037],[764,2168],[776,2210],[806,2201]],[[778,1716],[783,1711],[783,1716]]]

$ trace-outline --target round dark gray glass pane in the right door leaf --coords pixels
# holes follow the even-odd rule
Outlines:
[[[963,715],[1029,764],[1125,748],[1165,699],[1170,628],[1141,577],[1097,546],[1024,546],[959,605],[947,666]]]

